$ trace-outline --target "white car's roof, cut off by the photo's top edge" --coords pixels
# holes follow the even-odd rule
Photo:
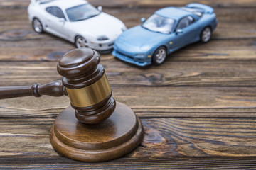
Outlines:
[[[54,0],[46,4],[46,6],[58,6],[60,8],[66,9],[73,6],[78,6],[81,4],[87,4],[85,0]]]

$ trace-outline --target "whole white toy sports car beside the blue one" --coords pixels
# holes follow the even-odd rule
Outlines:
[[[126,30],[122,21],[84,0],[31,0],[28,18],[36,33],[46,31],[75,43],[110,51],[114,40]]]

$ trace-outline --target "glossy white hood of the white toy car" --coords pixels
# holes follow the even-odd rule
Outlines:
[[[103,12],[98,16],[70,24],[81,35],[89,34],[93,37],[106,35],[110,39],[116,39],[122,33],[122,28],[125,28],[124,23],[118,18]]]

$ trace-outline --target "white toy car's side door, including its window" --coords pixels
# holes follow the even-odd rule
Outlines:
[[[61,38],[67,38],[66,18],[63,11],[57,6],[50,6],[46,8],[48,16],[46,18],[46,30],[48,32],[58,35]]]

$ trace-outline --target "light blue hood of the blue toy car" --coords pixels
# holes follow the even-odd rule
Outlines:
[[[154,45],[158,45],[167,37],[166,34],[156,33],[147,30],[142,26],[135,26],[129,30],[124,31],[115,41],[117,46],[133,47],[139,50],[146,50]]]

